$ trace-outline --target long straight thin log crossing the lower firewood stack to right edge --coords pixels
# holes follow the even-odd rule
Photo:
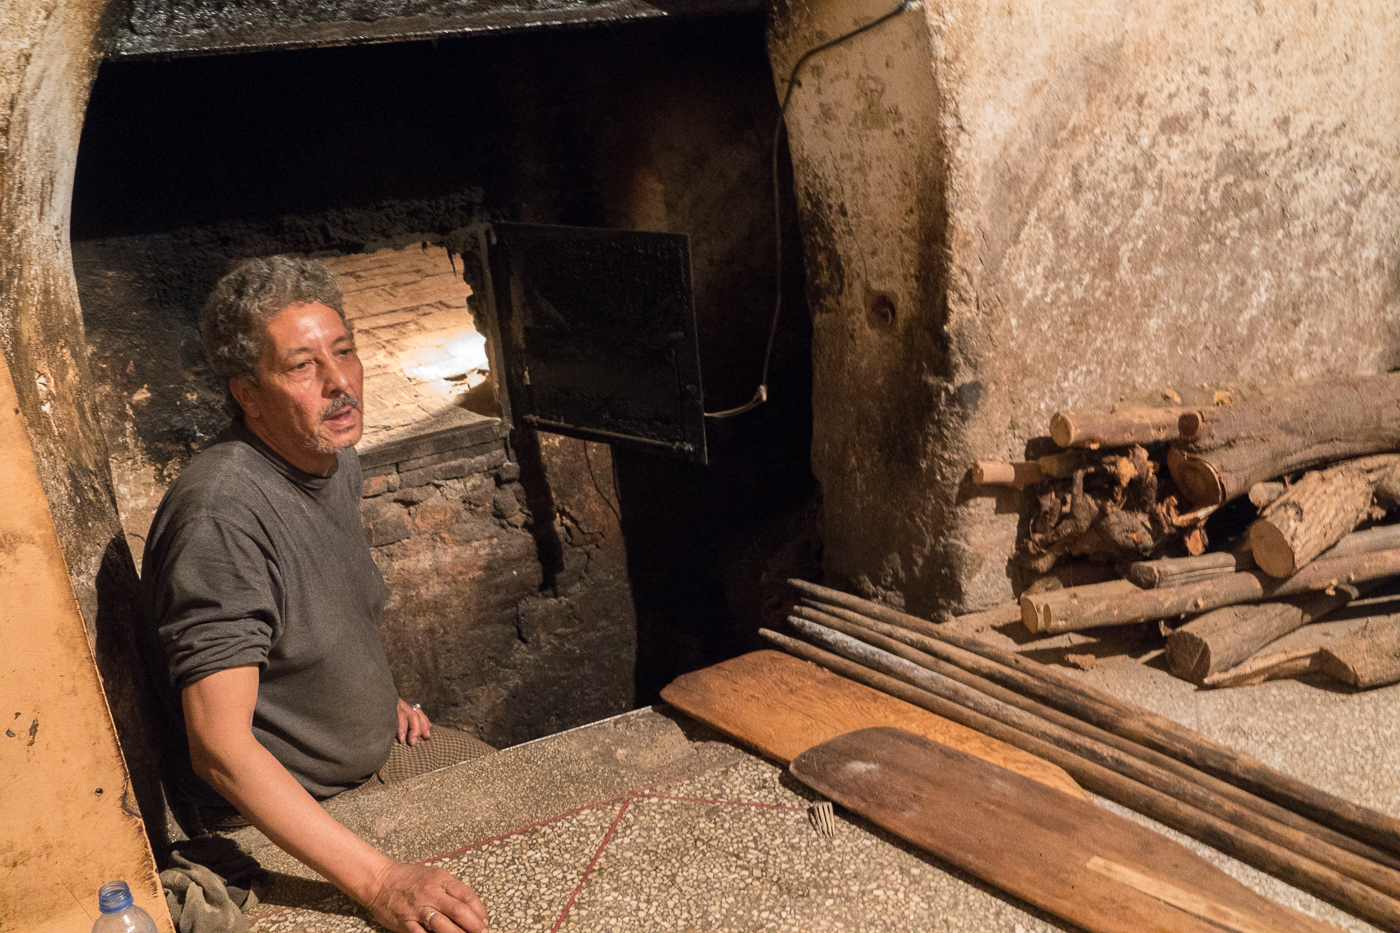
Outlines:
[[[1337,584],[1368,583],[1392,576],[1400,576],[1400,548],[1313,560],[1287,580],[1274,580],[1267,574],[1253,572],[1231,573],[1214,580],[1155,590],[1141,590],[1127,580],[1117,583],[1126,584],[1131,590],[1112,588],[1109,583],[1100,583],[1095,587],[1072,587],[1022,597],[1021,618],[1030,632],[1054,635],[1100,625],[1155,622],[1177,615],[1210,612],[1240,602],[1302,595]]]

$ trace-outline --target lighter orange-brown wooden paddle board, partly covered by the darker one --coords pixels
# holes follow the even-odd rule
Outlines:
[[[784,765],[843,733],[896,726],[1086,799],[1058,765],[783,651],[685,674],[661,699]]]

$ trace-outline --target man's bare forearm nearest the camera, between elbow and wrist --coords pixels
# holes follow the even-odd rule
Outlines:
[[[391,859],[322,810],[251,731],[192,756],[200,778],[279,848],[356,901],[374,898]]]

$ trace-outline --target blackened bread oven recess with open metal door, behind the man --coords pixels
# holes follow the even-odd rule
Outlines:
[[[165,486],[227,422],[204,296],[242,258],[314,255],[365,360],[363,516],[402,695],[505,745],[738,650],[813,490],[791,226],[774,401],[703,415],[753,394],[773,314],[762,17],[532,31],[557,11],[524,11],[518,32],[461,20],[438,35],[466,38],[434,43],[381,21],[354,39],[381,45],[287,50],[350,39],[192,8],[132,7],[74,195],[137,560]]]

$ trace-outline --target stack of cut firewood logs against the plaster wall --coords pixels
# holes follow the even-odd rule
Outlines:
[[[1400,524],[1385,524],[1400,504],[1400,374],[1215,392],[1198,408],[1061,412],[1050,436],[1061,450],[977,464],[973,481],[1026,490],[1029,570],[1078,558],[1117,579],[1029,590],[1030,632],[1189,619],[1166,656],[1197,684],[1301,671],[1400,681],[1400,614],[1327,649],[1267,651],[1400,577]]]

